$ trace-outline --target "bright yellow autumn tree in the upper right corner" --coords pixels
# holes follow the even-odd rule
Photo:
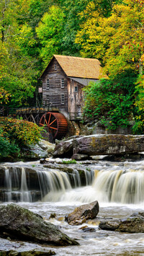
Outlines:
[[[109,76],[137,68],[142,72],[143,20],[144,7],[137,1],[114,4],[109,17],[92,11],[76,36],[81,55],[99,58]]]

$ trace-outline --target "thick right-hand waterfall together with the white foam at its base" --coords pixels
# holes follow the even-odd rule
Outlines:
[[[144,172],[138,170],[101,170],[95,172],[92,185],[66,192],[61,200],[90,203],[133,203],[144,201]]]

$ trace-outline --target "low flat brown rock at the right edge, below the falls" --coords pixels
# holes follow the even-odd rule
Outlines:
[[[133,213],[127,219],[101,221],[99,228],[111,231],[144,233],[144,212]]]

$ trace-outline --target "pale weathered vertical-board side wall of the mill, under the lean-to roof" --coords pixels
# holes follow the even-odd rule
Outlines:
[[[78,91],[76,92],[76,87]],[[72,79],[68,79],[68,112],[80,113],[83,107],[84,86]]]

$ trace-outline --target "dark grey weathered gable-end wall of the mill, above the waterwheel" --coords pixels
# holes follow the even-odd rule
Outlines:
[[[47,79],[50,81],[49,89],[47,88]],[[64,79],[64,88],[61,88],[61,79]],[[61,104],[61,94],[64,94],[64,104]],[[68,112],[67,76],[55,58],[42,76],[42,102],[43,106],[50,105]]]

